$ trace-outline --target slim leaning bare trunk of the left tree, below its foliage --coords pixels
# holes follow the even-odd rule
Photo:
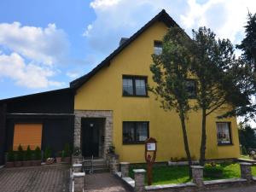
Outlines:
[[[184,148],[185,148],[185,152],[187,154],[187,158],[189,161],[189,178],[192,177],[192,160],[191,160],[191,154],[189,152],[189,142],[188,142],[188,136],[187,136],[187,130],[186,130],[186,125],[185,125],[185,117],[183,112],[179,112],[179,117],[180,117],[180,121],[182,124],[182,130],[183,130],[183,142],[184,142]]]

